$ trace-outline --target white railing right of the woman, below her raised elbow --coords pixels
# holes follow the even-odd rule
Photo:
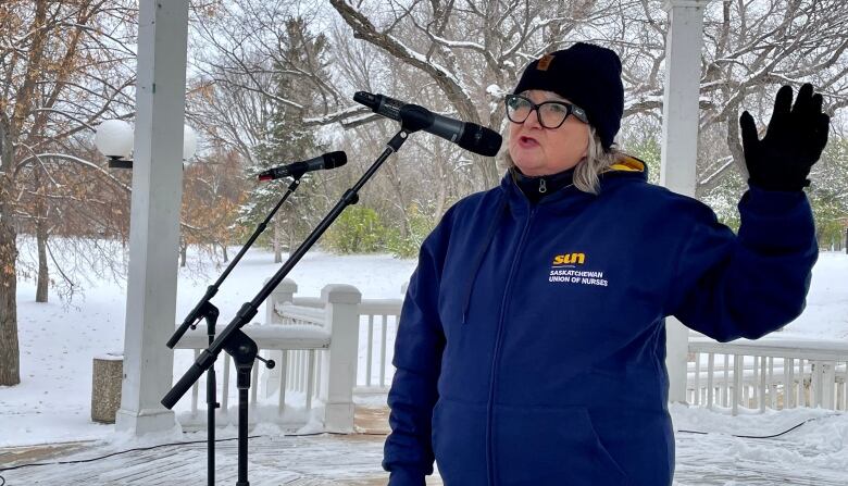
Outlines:
[[[707,408],[848,410],[848,344],[689,338],[687,400]]]

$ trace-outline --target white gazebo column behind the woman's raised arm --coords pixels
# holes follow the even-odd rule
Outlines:
[[[662,166],[660,184],[695,196],[698,121],[703,43],[703,9],[710,0],[668,0],[665,94],[662,104]],[[688,329],[674,317],[665,323],[669,400],[686,400]]]

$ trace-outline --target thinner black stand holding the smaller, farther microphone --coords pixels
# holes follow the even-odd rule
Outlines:
[[[245,253],[247,253],[247,250],[253,246],[253,242],[257,240],[257,238],[259,238],[259,235],[265,230],[269,222],[271,222],[277,211],[279,211],[279,208],[283,207],[283,203],[286,202],[288,197],[291,196],[291,194],[300,186],[300,178],[303,177],[303,173],[294,174],[292,177],[295,180],[288,185],[288,190],[286,190],[286,194],[283,195],[283,198],[279,200],[279,202],[277,202],[274,209],[271,210],[271,213],[265,217],[265,220],[260,223],[259,226],[257,226],[257,229],[241,247],[241,250],[239,250],[238,254],[236,254],[233,261],[229,262],[229,265],[227,265],[226,270],[224,270],[224,273],[222,273],[217,278],[217,282],[207,287],[207,292],[203,295],[203,298],[200,299],[197,306],[195,306],[195,309],[192,309],[183,321],[183,324],[180,324],[176,332],[174,332],[174,335],[171,336],[171,339],[167,341],[169,348],[174,349],[174,346],[176,346],[179,339],[183,338],[183,335],[186,334],[188,328],[190,327],[196,329],[197,324],[200,322],[200,320],[203,319],[207,321],[207,335],[209,337],[209,344],[212,345],[212,342],[214,342],[215,325],[217,323],[217,316],[220,312],[219,309],[212,302],[210,302],[210,300],[215,296],[215,294],[217,294],[221,284],[224,283],[233,269],[238,264],[239,260],[241,260],[241,257],[244,257]],[[269,369],[274,367],[274,361],[269,360],[265,362],[265,364],[269,366]],[[236,370],[240,370],[238,362],[236,362]],[[238,371],[237,387],[239,390],[241,389],[241,379],[240,371]],[[247,377],[247,383],[248,386],[250,386],[249,375]],[[221,408],[221,404],[217,402],[217,398],[215,397],[216,394],[217,383],[215,378],[215,366],[210,366],[207,371],[207,477],[209,486],[215,485],[215,410]],[[239,413],[241,413],[240,409]]]

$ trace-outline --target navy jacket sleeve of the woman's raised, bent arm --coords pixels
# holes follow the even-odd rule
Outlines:
[[[668,314],[722,342],[758,339],[797,317],[819,256],[803,192],[751,186],[738,208],[737,236],[699,203],[669,291]]]

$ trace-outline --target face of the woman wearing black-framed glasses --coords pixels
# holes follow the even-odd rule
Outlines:
[[[532,89],[522,94],[534,103],[565,101],[551,91]],[[509,152],[512,161],[528,176],[550,175],[569,170],[586,157],[589,125],[569,115],[559,128],[539,125],[536,110],[524,123],[510,122]]]

